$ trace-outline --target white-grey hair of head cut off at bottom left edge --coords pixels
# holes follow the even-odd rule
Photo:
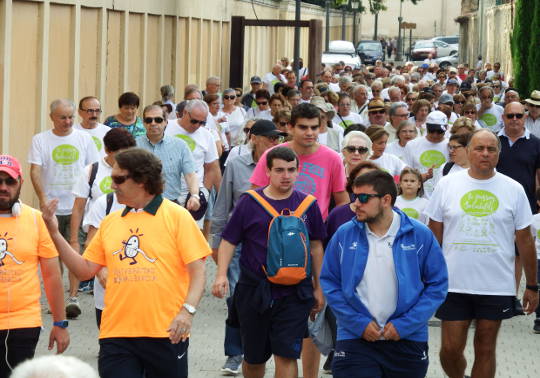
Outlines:
[[[72,356],[41,356],[18,365],[11,378],[99,378],[86,362]]]

